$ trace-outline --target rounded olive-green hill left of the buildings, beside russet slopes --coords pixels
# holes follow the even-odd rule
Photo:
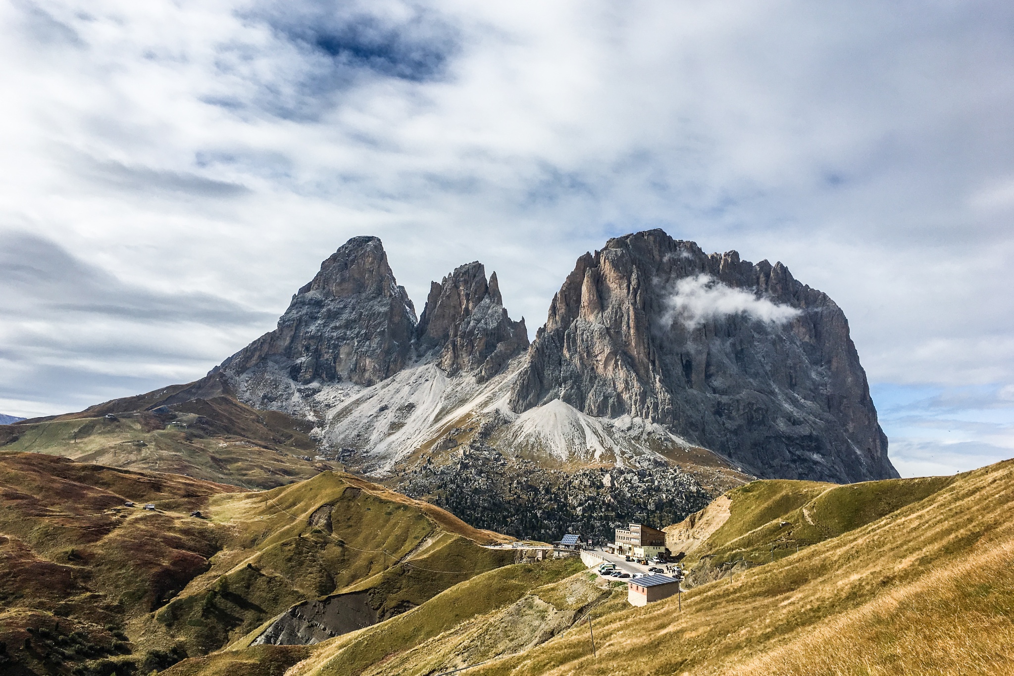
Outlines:
[[[214,500],[209,515],[229,526],[228,543],[147,629],[164,627],[189,654],[216,650],[292,604],[328,594],[369,591],[378,618],[391,616],[467,577],[433,578],[422,569],[487,570],[513,559],[480,546],[505,538],[334,472]]]

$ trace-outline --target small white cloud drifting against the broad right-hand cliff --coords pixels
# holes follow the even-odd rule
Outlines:
[[[731,314],[746,314],[758,321],[782,324],[801,310],[772,302],[742,289],[733,289],[711,275],[695,275],[676,280],[666,299],[665,323],[679,320],[689,328]]]

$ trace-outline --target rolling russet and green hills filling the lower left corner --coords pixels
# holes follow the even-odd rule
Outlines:
[[[0,453],[0,671],[20,670],[10,673],[148,673],[300,601],[358,590],[389,617],[513,561],[480,546],[496,534],[330,471],[251,493]]]

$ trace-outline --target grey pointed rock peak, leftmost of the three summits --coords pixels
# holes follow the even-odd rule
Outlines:
[[[231,374],[271,364],[291,380],[372,385],[412,358],[416,311],[376,237],[353,237],[301,288],[278,328],[227,359]]]

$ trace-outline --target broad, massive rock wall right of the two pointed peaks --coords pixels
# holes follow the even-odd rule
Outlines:
[[[838,305],[781,264],[662,230],[581,256],[553,299],[510,404],[558,398],[661,424],[763,477],[897,476]]]

